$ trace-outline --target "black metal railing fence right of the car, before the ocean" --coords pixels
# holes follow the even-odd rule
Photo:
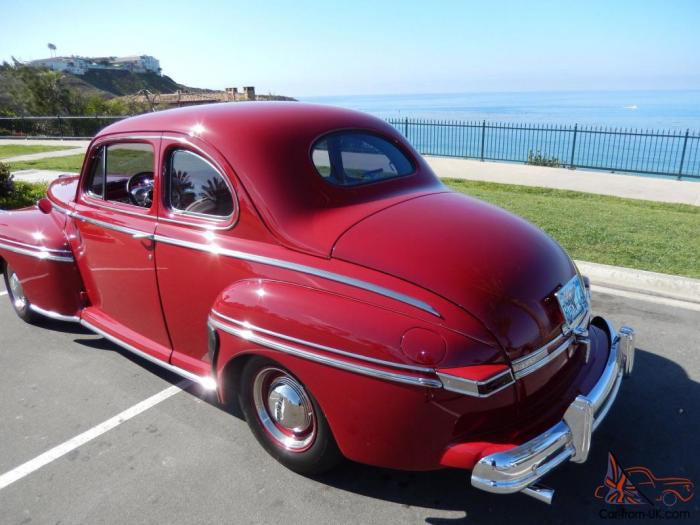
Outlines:
[[[700,179],[700,133],[388,119],[424,155]]]

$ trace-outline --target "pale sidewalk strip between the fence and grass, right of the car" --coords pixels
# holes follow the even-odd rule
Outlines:
[[[426,156],[425,159],[439,177],[521,184],[700,206],[700,181],[677,181],[510,162],[481,162],[430,156]]]

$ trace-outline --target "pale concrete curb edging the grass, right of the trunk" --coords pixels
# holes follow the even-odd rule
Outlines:
[[[574,262],[594,285],[700,305],[700,279],[587,261]]]

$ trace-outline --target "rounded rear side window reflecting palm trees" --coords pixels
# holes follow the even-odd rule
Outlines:
[[[233,214],[233,195],[222,175],[199,155],[174,150],[168,163],[168,206],[182,213],[225,218]]]

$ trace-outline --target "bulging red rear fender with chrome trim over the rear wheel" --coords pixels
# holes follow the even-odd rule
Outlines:
[[[401,340],[409,329],[431,330],[449,350],[463,346],[464,336],[337,293],[261,279],[224,290],[209,325],[222,401],[234,401],[245,360],[264,356],[306,385],[346,457],[418,470],[439,465],[445,434],[452,432],[456,416],[434,401],[446,394],[433,367],[404,355]],[[499,350],[493,352],[492,358],[499,359]],[[477,414],[477,404],[489,405],[477,398],[448,397],[447,406],[466,404]]]

